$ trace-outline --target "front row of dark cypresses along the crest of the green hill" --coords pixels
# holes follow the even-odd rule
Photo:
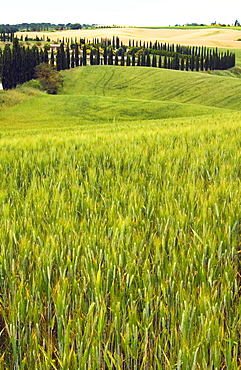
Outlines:
[[[152,49],[145,49],[137,54],[125,52],[123,48],[114,51],[112,46],[105,47],[101,56],[99,48],[91,48],[89,51],[90,65],[126,65],[126,66],[146,66],[159,67],[168,69],[180,69],[186,71],[208,71],[208,70],[225,70],[235,65],[235,54],[218,53],[216,50],[207,50],[205,54],[184,55],[177,52],[159,53]],[[74,68],[87,64],[87,47],[86,45],[80,50],[76,43],[72,53],[70,49],[64,48],[61,44],[57,52],[56,68],[57,70]]]

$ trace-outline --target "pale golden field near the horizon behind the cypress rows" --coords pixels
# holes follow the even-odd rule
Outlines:
[[[18,36],[28,34],[29,37],[49,37],[53,41],[69,38],[86,38],[92,41],[93,38],[119,36],[124,43],[129,39],[170,42],[182,45],[206,45],[219,48],[236,48],[241,49],[240,30],[236,29],[147,29],[147,28],[105,28],[94,30],[73,30],[73,31],[56,31],[56,32],[28,32],[17,33]]]

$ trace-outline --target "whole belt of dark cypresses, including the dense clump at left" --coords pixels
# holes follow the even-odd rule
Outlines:
[[[0,48],[0,75],[4,89],[11,89],[35,77],[35,67],[49,64],[57,71],[89,65],[143,66],[182,71],[224,70],[235,66],[235,54],[217,48],[187,47],[159,42],[129,41],[123,45],[112,39],[62,40],[57,51],[36,45],[21,46],[17,38],[12,47]]]

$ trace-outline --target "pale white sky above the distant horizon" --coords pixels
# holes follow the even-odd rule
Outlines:
[[[185,23],[241,22],[241,0],[12,0],[3,1],[0,24],[96,23],[174,26]]]

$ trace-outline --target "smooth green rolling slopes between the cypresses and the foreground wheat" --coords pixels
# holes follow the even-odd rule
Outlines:
[[[223,115],[240,110],[239,79],[154,68],[92,66],[63,73],[61,95],[1,92],[1,132]],[[19,104],[17,104],[19,103]],[[10,130],[10,131],[9,131]]]

